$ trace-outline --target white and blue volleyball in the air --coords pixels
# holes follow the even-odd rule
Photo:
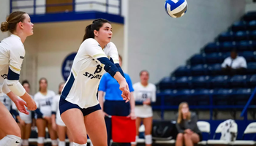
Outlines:
[[[172,18],[180,18],[187,12],[186,0],[166,0],[165,11]]]

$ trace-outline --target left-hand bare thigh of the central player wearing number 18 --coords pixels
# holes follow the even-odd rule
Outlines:
[[[83,120],[83,113],[79,109],[73,108],[63,112],[61,114],[61,119],[69,129],[73,142],[78,144],[87,143],[86,126]]]

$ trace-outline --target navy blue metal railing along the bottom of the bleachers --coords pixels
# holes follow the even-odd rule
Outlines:
[[[175,96],[208,96],[209,98],[209,104],[208,105],[189,105],[189,109],[195,110],[195,109],[204,109],[204,110],[209,110],[210,111],[210,120],[213,120],[213,116],[214,116],[214,110],[217,109],[248,109],[248,108],[256,108],[256,105],[249,105],[249,103],[252,101],[253,97],[255,96],[256,93],[256,88],[255,90],[252,92],[252,95],[250,96],[249,100],[247,101],[246,106],[244,105],[214,105],[214,96],[219,96],[219,95],[223,95],[221,93],[192,93],[192,94],[173,94],[170,95],[169,93],[157,93],[157,96],[160,97],[160,104],[161,105],[153,105],[153,109],[154,110],[160,110],[161,112],[161,118],[162,120],[164,120],[164,112],[165,110],[178,110],[178,105],[165,105],[165,98],[167,96],[173,96],[175,98]],[[241,95],[238,93],[228,93],[225,94],[228,96],[233,96],[233,95]],[[244,94],[243,94],[244,95]],[[247,94],[248,96],[250,94]],[[189,97],[188,97],[189,98]],[[173,99],[175,100],[175,99]],[[241,115],[243,114],[244,111],[242,112]],[[246,117],[245,117],[246,118]],[[244,119],[246,120],[246,119]]]

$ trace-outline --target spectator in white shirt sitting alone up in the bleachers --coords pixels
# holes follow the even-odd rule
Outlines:
[[[232,50],[230,57],[225,58],[225,61],[222,63],[222,70],[224,74],[227,75],[243,74],[246,68],[247,64],[245,58],[238,56],[236,50]]]

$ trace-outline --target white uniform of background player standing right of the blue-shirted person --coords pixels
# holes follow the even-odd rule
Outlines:
[[[137,82],[133,85],[134,88],[134,96],[135,101],[146,101],[147,99],[150,99],[151,102],[156,101],[156,85],[148,83],[148,85],[145,87],[141,85],[140,82]],[[152,107],[150,105],[136,105],[135,106],[135,115],[139,118],[148,118],[153,116]]]

